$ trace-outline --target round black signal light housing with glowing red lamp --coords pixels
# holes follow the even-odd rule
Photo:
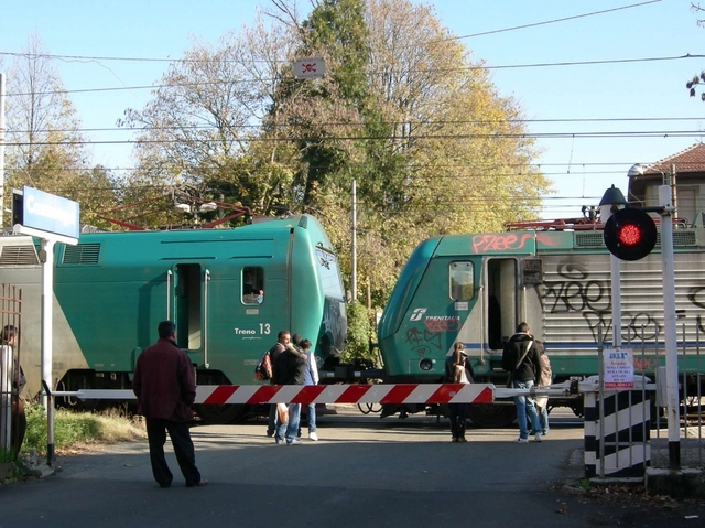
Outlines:
[[[657,245],[657,226],[642,209],[618,209],[605,224],[605,246],[620,260],[639,260]]]

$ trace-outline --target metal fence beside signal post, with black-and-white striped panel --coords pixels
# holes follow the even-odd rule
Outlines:
[[[677,370],[680,387],[680,465],[704,467],[705,422],[703,421],[703,384],[705,358],[701,321],[680,321]],[[597,396],[593,410],[595,442],[588,441],[586,455],[594,451],[595,470],[600,476],[619,476],[643,472],[644,466],[671,467],[665,390],[665,344],[658,325],[622,328],[630,336],[622,347],[633,353],[634,390],[625,394],[605,392]],[[617,396],[617,398],[615,398]],[[621,397],[621,398],[619,398]],[[614,398],[614,400],[611,400]],[[623,403],[619,402],[619,399]],[[586,405],[586,423],[588,410]],[[592,427],[592,425],[590,425]],[[588,473],[586,456],[586,474]]]

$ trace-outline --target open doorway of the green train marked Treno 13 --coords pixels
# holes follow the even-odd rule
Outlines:
[[[207,272],[198,263],[178,263],[172,268],[174,285],[167,312],[176,324],[176,344],[180,348],[196,351],[204,340],[203,300],[207,284]]]

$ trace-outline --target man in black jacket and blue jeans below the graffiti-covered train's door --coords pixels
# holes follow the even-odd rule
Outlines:
[[[539,347],[529,333],[527,323],[519,323],[517,333],[505,345],[502,368],[510,373],[510,388],[514,389],[530,389],[541,376]],[[534,440],[541,442],[541,425],[533,400],[529,396],[514,396],[514,405],[519,423],[519,438],[514,442],[529,443],[527,414],[531,419],[532,430],[535,431]]]

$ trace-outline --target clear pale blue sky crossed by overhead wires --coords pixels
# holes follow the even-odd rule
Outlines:
[[[534,120],[529,125],[531,132],[567,134],[544,137],[538,143],[543,152],[536,161],[556,191],[555,197],[544,202],[546,218],[578,216],[581,205],[596,205],[612,183],[626,193],[626,174],[633,163],[658,161],[701,140],[705,103],[687,97],[685,82],[705,68],[705,56],[660,60],[705,55],[705,29],[697,26],[690,0],[425,3],[435,7],[442,23],[455,35],[475,35],[460,42],[476,60],[495,67],[491,77],[498,91],[513,96],[525,117]],[[53,55],[178,58],[192,47],[192,36],[215,44],[227,31],[237,32],[252,21],[257,4],[249,0],[6,0],[0,10],[0,52],[20,52],[29,35],[36,34]],[[269,2],[260,0],[259,4]],[[307,8],[308,2],[301,6]],[[634,7],[615,10],[628,6]],[[701,17],[705,19],[705,12]],[[568,20],[541,24],[560,19]],[[643,58],[651,61],[536,66]],[[7,66],[10,57],[0,55],[0,61]],[[499,67],[519,65],[533,66]],[[64,60],[56,66],[68,90],[82,90],[149,86],[161,78],[166,63]],[[0,69],[7,67],[0,63]],[[150,100],[150,90],[73,93],[69,97],[85,129],[115,128],[126,108],[141,109]],[[579,119],[614,121],[575,121]],[[586,132],[619,136],[581,137]],[[625,132],[653,132],[653,137],[625,137]],[[85,132],[85,137],[94,141],[130,138],[127,131]],[[130,165],[126,146],[96,144],[93,155],[94,163],[109,168]]]

